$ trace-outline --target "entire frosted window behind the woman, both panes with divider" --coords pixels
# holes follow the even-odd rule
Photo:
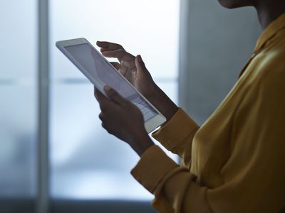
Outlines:
[[[45,199],[52,200],[52,212],[80,202],[89,207],[88,200],[102,209],[116,200],[113,208],[143,211],[152,195],[130,175],[138,156],[100,126],[92,85],[55,43],[78,37],[120,43],[142,55],[155,82],[177,102],[179,1],[11,0],[0,11],[0,212],[47,212],[36,210]],[[48,97],[39,90],[43,75]],[[44,133],[48,144],[42,144]],[[47,153],[49,164],[41,159]],[[50,175],[37,170],[43,166]],[[41,191],[46,183],[49,192]]]

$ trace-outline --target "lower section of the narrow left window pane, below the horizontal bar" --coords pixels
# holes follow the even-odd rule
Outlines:
[[[34,85],[0,85],[0,197],[36,193]]]

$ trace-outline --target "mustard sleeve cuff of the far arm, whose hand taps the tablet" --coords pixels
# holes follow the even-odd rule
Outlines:
[[[199,129],[183,109],[178,109],[170,121],[152,133],[168,151],[182,158],[182,165],[190,167],[192,139]]]

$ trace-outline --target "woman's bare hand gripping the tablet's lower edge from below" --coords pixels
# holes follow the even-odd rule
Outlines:
[[[104,90],[109,99],[94,87],[95,98],[100,104],[99,119],[103,128],[128,143],[138,155],[142,155],[154,143],[145,131],[140,109],[114,89],[105,86]]]

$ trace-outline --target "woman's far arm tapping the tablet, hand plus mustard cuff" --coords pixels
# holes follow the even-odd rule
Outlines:
[[[105,57],[119,60],[119,63],[112,62],[118,72],[166,117],[163,127],[152,136],[169,151],[180,155],[183,165],[189,167],[191,142],[199,126],[155,84],[140,55],[135,57],[116,43],[98,41],[97,45]]]

